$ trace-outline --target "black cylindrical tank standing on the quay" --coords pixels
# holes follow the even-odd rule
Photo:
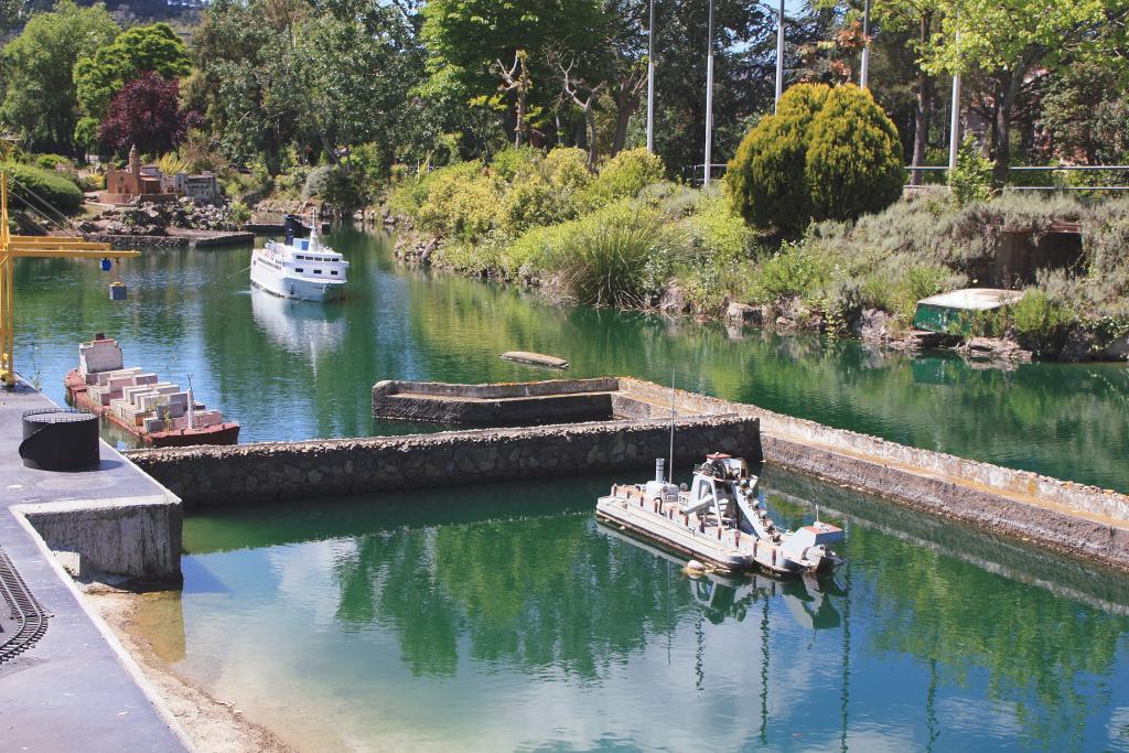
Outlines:
[[[40,471],[81,471],[98,465],[98,417],[63,408],[24,413],[24,465]]]

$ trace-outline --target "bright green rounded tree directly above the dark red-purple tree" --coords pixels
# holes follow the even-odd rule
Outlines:
[[[76,63],[78,104],[86,117],[100,121],[111,98],[143,71],[176,79],[191,70],[184,42],[168,24],[134,26]]]

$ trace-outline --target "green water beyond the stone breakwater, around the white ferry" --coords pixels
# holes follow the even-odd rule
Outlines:
[[[156,252],[124,265],[130,300],[108,300],[89,262],[20,261],[17,368],[62,400],[76,343],[116,336],[129,365],[186,384],[243,424],[243,440],[403,431],[375,427],[385,378],[488,382],[553,371],[498,359],[532,350],[570,376],[636,375],[751,402],[903,444],[1129,491],[1129,368],[1031,364],[1014,371],[956,358],[909,359],[854,341],[749,332],[589,308],[447,274],[408,272],[380,236],[342,229],[340,304],[250,289],[250,248]]]

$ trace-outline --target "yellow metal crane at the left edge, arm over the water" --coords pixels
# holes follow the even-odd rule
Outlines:
[[[114,251],[108,243],[91,243],[79,238],[11,235],[8,229],[8,174],[0,173],[0,384],[16,384],[12,353],[16,326],[14,295],[17,259],[131,259],[137,251]]]

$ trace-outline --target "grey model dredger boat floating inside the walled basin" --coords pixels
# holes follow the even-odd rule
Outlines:
[[[787,576],[842,564],[830,549],[842,541],[842,528],[820,520],[796,531],[778,528],[758,493],[760,480],[743,458],[708,455],[689,488],[665,480],[663,465],[656,462],[654,481],[612,487],[596,502],[597,519],[721,572],[761,568]]]

